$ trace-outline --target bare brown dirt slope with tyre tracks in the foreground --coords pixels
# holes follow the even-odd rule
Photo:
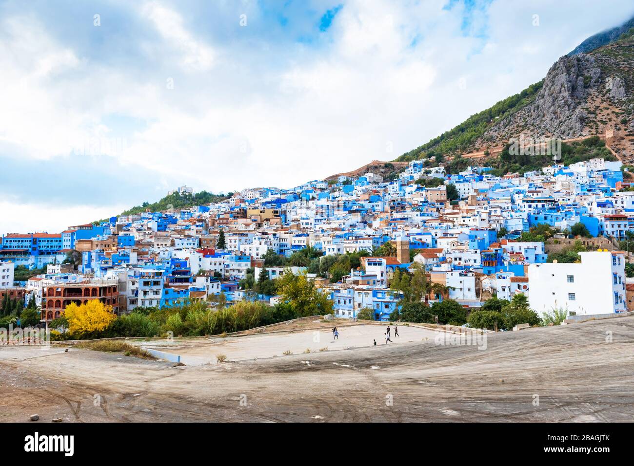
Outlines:
[[[634,419],[634,317],[495,334],[483,350],[420,339],[172,366],[87,349],[3,347],[0,420]]]

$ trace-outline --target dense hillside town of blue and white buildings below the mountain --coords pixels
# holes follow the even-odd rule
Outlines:
[[[425,305],[451,299],[472,312],[523,294],[538,314],[623,313],[634,309],[621,250],[634,228],[634,191],[623,170],[597,158],[500,177],[419,160],[393,179],[340,175],[62,232],[10,232],[0,298],[36,306],[41,323],[91,300],[118,315],[219,296],[273,306],[275,280],[294,274],[314,281],[335,317],[369,309],[362,318],[391,322],[403,303],[395,275],[423,270]]]

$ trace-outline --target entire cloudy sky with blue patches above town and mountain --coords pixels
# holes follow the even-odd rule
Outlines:
[[[537,15],[537,16],[536,16]],[[0,1],[0,234],[393,160],[631,0]]]

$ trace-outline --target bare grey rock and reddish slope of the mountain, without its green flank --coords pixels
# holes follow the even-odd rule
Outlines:
[[[534,101],[484,132],[475,147],[519,134],[574,139],[602,135],[623,158],[634,158],[634,34],[590,54],[562,56]]]

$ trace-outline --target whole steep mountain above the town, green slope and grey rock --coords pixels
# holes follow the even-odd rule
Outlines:
[[[634,18],[623,27],[590,37],[559,58],[541,82],[397,160],[437,153],[485,158],[524,134],[564,141],[598,135],[615,156],[633,161],[634,27],[624,30],[630,23]],[[589,50],[593,44],[601,45]]]

